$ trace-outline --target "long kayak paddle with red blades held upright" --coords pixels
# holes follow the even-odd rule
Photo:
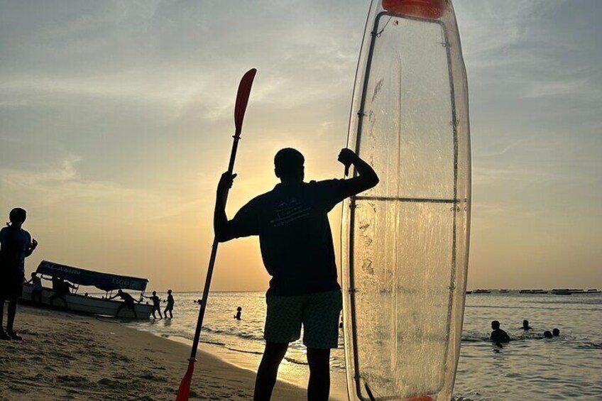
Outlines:
[[[239,140],[241,138],[241,131],[243,126],[244,114],[246,111],[246,105],[248,104],[248,96],[251,94],[251,85],[253,85],[253,79],[255,78],[257,70],[255,68],[248,70],[241,79],[239,84],[239,92],[236,94],[236,105],[234,106],[234,125],[236,131],[234,133],[234,143],[232,144],[232,151],[230,153],[230,163],[228,165],[229,175],[234,170],[234,160],[236,159],[236,149],[239,147]],[[226,189],[226,196],[224,197],[224,206],[226,204],[226,198],[228,192]],[[195,362],[197,361],[197,348],[199,347],[199,337],[201,335],[201,328],[203,326],[203,317],[205,314],[205,308],[207,307],[207,297],[209,295],[209,287],[211,286],[211,278],[213,275],[213,267],[215,265],[215,257],[217,256],[217,239],[214,238],[213,246],[211,249],[211,257],[209,258],[209,268],[207,268],[207,278],[205,279],[205,287],[203,290],[203,298],[200,302],[199,319],[197,320],[197,329],[195,331],[195,341],[192,342],[192,351],[190,352],[190,358],[188,359],[188,369],[180,388],[177,390],[176,401],[187,401],[190,393],[190,381],[192,380],[192,373],[195,371]]]

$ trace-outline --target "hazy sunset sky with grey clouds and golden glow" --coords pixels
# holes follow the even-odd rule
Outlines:
[[[0,1],[0,216],[40,260],[201,290],[236,88],[258,70],[227,211],[273,155],[342,176],[368,1]],[[469,288],[602,287],[602,1],[455,0],[469,77]],[[338,248],[341,213],[330,214]],[[266,290],[256,238],[213,290]]]

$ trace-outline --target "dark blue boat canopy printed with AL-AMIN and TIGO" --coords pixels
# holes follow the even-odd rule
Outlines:
[[[146,290],[148,280],[146,278],[128,277],[109,273],[99,273],[92,270],[72,268],[67,265],[42,260],[38,266],[37,273],[62,278],[74,284],[92,285],[99,290],[112,291],[119,288],[127,290]]]

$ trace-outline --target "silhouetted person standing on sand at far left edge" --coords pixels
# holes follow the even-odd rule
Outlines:
[[[0,230],[0,339],[23,340],[14,330],[17,300],[23,295],[25,258],[31,255],[38,241],[23,230],[27,218],[25,209],[16,207],[9,213],[10,223]],[[9,300],[6,332],[4,331],[4,302]]]

